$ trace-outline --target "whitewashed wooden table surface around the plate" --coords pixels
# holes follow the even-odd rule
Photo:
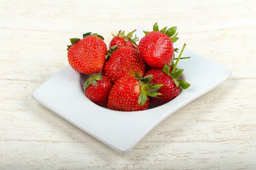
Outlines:
[[[255,170],[256,1],[0,3],[0,169]],[[180,40],[232,70],[121,154],[31,99],[68,64],[69,38],[177,26]],[[202,70],[203,71],[203,70]],[[203,78],[203,77],[202,77]]]

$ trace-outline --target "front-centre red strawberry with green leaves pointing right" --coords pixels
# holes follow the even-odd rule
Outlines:
[[[152,77],[150,75],[137,80],[130,76],[124,76],[118,79],[110,91],[108,108],[119,111],[146,110],[149,104],[148,96],[161,95],[157,91],[162,84],[148,84]]]

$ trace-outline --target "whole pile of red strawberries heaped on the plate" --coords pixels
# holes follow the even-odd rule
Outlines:
[[[146,110],[148,106],[165,104],[186,89],[189,83],[177,79],[182,69],[176,66],[181,58],[175,58],[178,49],[173,43],[179,38],[176,26],[159,31],[157,23],[153,31],[144,31],[139,38],[132,31],[125,35],[119,31],[110,41],[109,50],[104,38],[97,33],[85,33],[83,39],[71,38],[67,47],[68,62],[75,71],[94,74],[84,84],[85,95],[95,104],[119,111]]]

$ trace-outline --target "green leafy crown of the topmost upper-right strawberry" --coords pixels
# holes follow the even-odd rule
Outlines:
[[[163,29],[161,29],[159,31],[159,27],[157,25],[157,22],[153,25],[153,31],[159,31],[160,33],[164,33],[166,34],[168,37],[170,37],[171,41],[174,43],[176,42],[179,38],[177,37],[178,33],[176,33],[177,31],[177,26],[173,26],[169,29],[167,29],[167,26],[164,27]],[[145,33],[145,35],[147,35],[149,33],[149,31],[143,31]],[[175,34],[176,33],[176,34]]]

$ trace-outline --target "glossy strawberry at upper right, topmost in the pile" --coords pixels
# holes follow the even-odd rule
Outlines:
[[[173,43],[179,39],[178,33],[175,34],[177,27],[173,26],[167,31],[166,28],[159,31],[156,22],[153,31],[144,31],[146,35],[139,42],[142,59],[153,68],[163,68],[164,64],[170,64],[173,59]]]

